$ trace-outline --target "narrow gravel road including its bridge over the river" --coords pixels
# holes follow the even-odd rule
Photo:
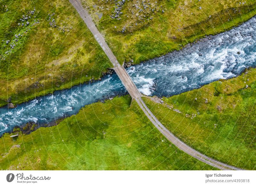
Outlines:
[[[120,65],[113,54],[113,52],[108,47],[108,44],[105,42],[104,37],[100,34],[98,29],[96,28],[95,24],[92,21],[92,18],[90,14],[87,12],[86,9],[83,8],[82,4],[79,0],[69,0],[69,2],[75,7],[76,11],[79,13],[80,17],[84,20],[84,23],[87,25],[87,27],[90,29],[92,34],[94,35],[97,42],[100,44],[102,50],[106,53],[109,60],[114,66],[114,70],[118,77],[121,79],[122,83],[124,84],[125,88],[131,95],[131,97],[138,103],[142,111],[146,114],[148,119],[153,123],[153,125],[170,141],[172,142],[176,147],[178,147],[181,151],[184,151],[185,153],[189,154],[190,156],[193,156],[194,158],[207,163],[208,165],[211,165],[213,167],[219,168],[221,170],[242,170],[237,167],[233,167],[230,165],[227,165],[225,163],[222,163],[220,161],[217,161],[215,159],[212,159],[208,156],[205,156],[204,154],[196,151],[195,149],[189,147],[187,144],[183,143],[175,137],[167,128],[164,127],[164,125],[157,120],[155,115],[149,110],[147,105],[144,103],[144,101],[141,99],[140,91],[135,86],[134,82],[132,81],[129,74],[124,69],[124,66]]]

